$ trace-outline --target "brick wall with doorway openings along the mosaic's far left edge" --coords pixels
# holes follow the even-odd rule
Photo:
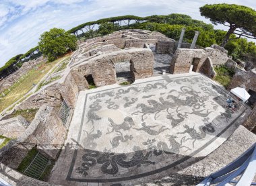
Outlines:
[[[96,86],[111,85],[117,82],[115,63],[130,62],[133,79],[151,77],[153,75],[154,54],[148,48],[129,48],[96,56],[91,60],[75,66],[73,71],[80,72],[79,79],[92,75]],[[80,82],[80,81],[79,81]]]

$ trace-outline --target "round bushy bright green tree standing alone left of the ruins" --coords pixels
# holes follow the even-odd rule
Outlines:
[[[53,61],[65,54],[67,50],[75,50],[76,38],[63,29],[52,28],[40,36],[38,46],[44,57]]]

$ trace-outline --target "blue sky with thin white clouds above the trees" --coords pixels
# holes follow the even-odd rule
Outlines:
[[[0,0],[0,66],[37,46],[40,34],[53,27],[69,30],[104,17],[170,13],[184,13],[210,23],[199,13],[199,7],[207,3],[235,3],[256,9],[253,0]]]

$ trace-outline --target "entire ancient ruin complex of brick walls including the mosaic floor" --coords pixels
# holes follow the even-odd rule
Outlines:
[[[198,34],[187,44],[183,36],[176,42],[159,32],[122,30],[80,44],[67,68],[48,77],[59,79],[15,106],[38,109],[30,124],[21,116],[0,121],[0,134],[15,138],[0,149],[3,175],[20,185],[136,185],[197,172],[226,144],[235,148],[239,140],[232,139],[251,135],[240,125],[255,128],[255,108],[227,107],[228,91],[212,81],[214,66],[237,66],[220,46],[196,46]],[[256,91],[255,73],[238,71],[228,89]],[[255,140],[251,135],[246,146]],[[13,170],[34,146],[43,162],[55,160],[49,183],[37,180],[43,165],[37,173]]]

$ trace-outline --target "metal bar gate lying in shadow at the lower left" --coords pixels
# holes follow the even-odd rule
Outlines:
[[[40,179],[47,165],[49,165],[49,162],[49,158],[46,158],[44,155],[38,152],[32,162],[30,162],[30,165],[24,171],[24,175],[35,179]]]

